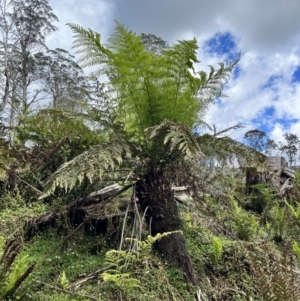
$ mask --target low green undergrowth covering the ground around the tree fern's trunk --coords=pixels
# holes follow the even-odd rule
[[[299,180],[296,173],[294,190],[283,198],[268,184],[256,185],[246,196],[241,178],[222,178],[215,183],[215,194],[178,203],[198,286],[188,284],[182,271],[153,249],[161,237],[150,235],[138,204],[124,207],[131,198],[128,192],[114,206],[106,206],[107,218],[99,226],[87,222],[74,231],[61,218],[55,227],[31,238],[22,225],[49,208],[3,196],[1,297],[298,301]]]

